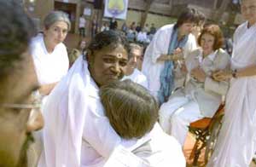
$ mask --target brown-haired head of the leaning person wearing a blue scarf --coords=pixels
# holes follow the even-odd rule
[[[195,9],[185,9],[177,18],[175,28],[178,28],[180,35],[188,35],[198,23],[199,15]]]

